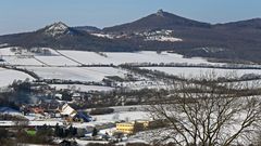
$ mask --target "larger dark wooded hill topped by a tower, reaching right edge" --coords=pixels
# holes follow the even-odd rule
[[[162,10],[144,18],[104,28],[108,34],[127,34],[142,50],[173,50],[188,57],[261,63],[261,18],[212,25],[177,16]],[[142,41],[137,32],[173,30],[172,37],[183,41]],[[162,37],[162,36],[161,36]]]

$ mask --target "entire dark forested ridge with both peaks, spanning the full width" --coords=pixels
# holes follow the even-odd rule
[[[261,18],[202,23],[159,10],[133,23],[99,29],[55,23],[42,29],[5,35],[0,43],[85,51],[174,51],[185,56],[261,63]]]

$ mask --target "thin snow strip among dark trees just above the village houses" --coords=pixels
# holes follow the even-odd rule
[[[77,91],[112,91],[114,88],[101,87],[101,85],[84,85],[84,84],[49,84],[51,88],[57,90],[61,89],[75,89]]]

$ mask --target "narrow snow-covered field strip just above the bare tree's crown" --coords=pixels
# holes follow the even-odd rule
[[[159,70],[170,75],[185,76],[186,78],[199,77],[200,75],[214,72],[217,77],[227,75],[243,76],[246,74],[261,75],[261,69],[220,69],[220,68],[198,68],[198,67],[141,67],[144,69]]]

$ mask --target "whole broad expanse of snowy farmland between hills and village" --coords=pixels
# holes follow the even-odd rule
[[[152,81],[144,77],[144,75],[135,75],[132,69],[125,70],[115,66],[123,64],[142,66],[142,64],[146,64],[145,66],[148,65],[148,67],[140,68],[163,71],[174,76],[182,75],[185,78],[192,78],[211,71],[214,71],[217,77],[231,74],[238,77],[246,74],[261,75],[261,70],[259,69],[213,69],[212,67],[219,67],[224,64],[210,63],[207,59],[199,57],[186,58],[183,57],[183,55],[167,52],[88,52],[53,50],[49,48],[37,48],[32,50],[21,48],[4,48],[0,50],[0,55],[2,65],[28,70],[36,74],[40,79],[59,79],[66,81],[102,83],[102,80],[107,79],[108,77],[113,77],[114,79],[116,77],[117,80],[114,80],[114,85],[129,88],[132,90],[140,90],[144,88],[165,89],[165,85],[161,81]],[[114,66],[109,67],[108,65],[111,64]],[[153,66],[153,64],[158,65],[158,67]],[[182,64],[184,66],[175,67],[176,64]],[[174,66],[165,67],[164,65]],[[201,68],[198,66],[204,67]],[[127,77],[129,75],[130,80],[129,77]],[[122,79],[126,80],[123,81]],[[63,84],[67,83],[64,82]],[[86,87],[83,87],[83,89],[85,89],[85,91],[91,90],[91,88],[88,90]],[[107,90],[103,89],[103,87],[101,87],[101,89],[94,89],[97,91]]]

